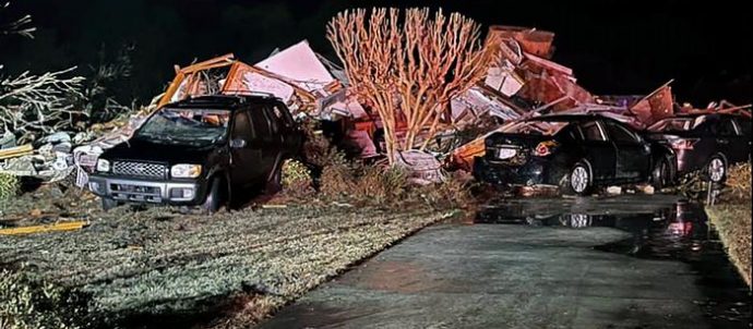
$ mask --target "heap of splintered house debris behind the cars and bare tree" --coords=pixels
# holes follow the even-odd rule
[[[690,112],[742,112],[750,105],[713,102],[704,109],[676,102],[671,81],[645,96],[598,96],[577,84],[572,69],[551,61],[554,34],[536,28],[491,26],[486,42],[497,56],[487,63],[486,78],[451,100],[426,151],[398,153],[395,163],[411,171],[419,183],[440,182],[446,170],[470,171],[483,155],[483,138],[516,120],[545,113],[598,112],[636,129]],[[85,132],[56,132],[33,144],[15,145],[11,132],[0,135],[0,173],[45,182],[73,178],[84,186],[97,156],[127,141],[154,109],[203,95],[271,95],[280,98],[298,118],[334,123],[338,145],[360,158],[385,154],[381,120],[349,93],[344,70],[314,52],[303,40],[251,65],[225,54],[186,68],[150,107]],[[401,136],[399,122],[397,136]],[[428,132],[429,126],[426,127]],[[468,134],[470,133],[470,135]],[[426,134],[425,134],[426,135]],[[425,137],[423,137],[425,138]],[[417,145],[425,142],[420,134]]]

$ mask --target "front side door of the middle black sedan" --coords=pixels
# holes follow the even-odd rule
[[[650,146],[617,121],[605,119],[601,122],[617,153],[614,176],[629,181],[641,181],[647,178],[652,166]]]

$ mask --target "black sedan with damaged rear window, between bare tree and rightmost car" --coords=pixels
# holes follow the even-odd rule
[[[674,175],[671,149],[601,115],[538,117],[509,124],[485,143],[474,175],[494,185],[560,185],[583,195],[611,184],[661,187]]]

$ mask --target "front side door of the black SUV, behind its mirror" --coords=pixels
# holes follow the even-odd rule
[[[261,149],[249,112],[239,110],[232,118],[230,138],[230,179],[234,186],[248,187],[260,175]]]

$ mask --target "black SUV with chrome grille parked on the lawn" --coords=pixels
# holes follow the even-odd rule
[[[204,96],[166,105],[97,160],[88,188],[103,208],[122,203],[201,206],[214,212],[277,186],[302,145],[287,107],[272,96]]]

